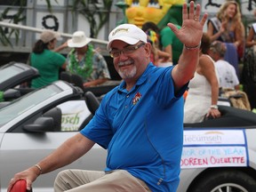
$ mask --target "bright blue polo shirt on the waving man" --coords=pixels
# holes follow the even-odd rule
[[[174,95],[172,67],[148,64],[125,90],[108,92],[81,133],[108,148],[106,171],[122,169],[144,180],[152,191],[176,191],[183,144],[183,92]]]

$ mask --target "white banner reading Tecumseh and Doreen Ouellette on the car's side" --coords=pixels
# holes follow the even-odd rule
[[[244,130],[184,131],[181,168],[247,166]]]

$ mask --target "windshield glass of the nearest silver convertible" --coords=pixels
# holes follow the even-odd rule
[[[10,105],[0,109],[0,127],[59,92],[61,89],[51,84],[14,100]]]

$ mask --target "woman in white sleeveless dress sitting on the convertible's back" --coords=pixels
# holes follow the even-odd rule
[[[184,123],[186,124],[200,123],[204,121],[204,118],[220,116],[217,106],[219,82],[214,61],[208,55],[210,45],[210,37],[204,33],[196,73],[188,84],[188,96],[184,107]]]

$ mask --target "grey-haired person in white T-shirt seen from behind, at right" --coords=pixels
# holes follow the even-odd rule
[[[231,88],[239,90],[239,80],[236,76],[236,69],[224,60],[227,47],[220,41],[214,41],[211,44],[209,55],[215,61],[221,88]]]

